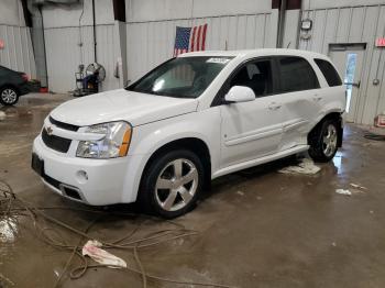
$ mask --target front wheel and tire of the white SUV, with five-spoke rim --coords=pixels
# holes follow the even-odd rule
[[[204,179],[205,169],[195,153],[166,152],[152,160],[143,173],[139,202],[146,212],[166,219],[183,215],[195,208]]]

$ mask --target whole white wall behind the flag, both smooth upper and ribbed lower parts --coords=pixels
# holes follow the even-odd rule
[[[170,58],[176,26],[207,23],[206,49],[274,47],[271,0],[125,0],[128,79]]]

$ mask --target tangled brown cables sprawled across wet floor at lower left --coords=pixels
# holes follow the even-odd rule
[[[70,210],[76,212],[92,213],[95,214],[95,218],[92,221],[88,223],[85,230],[80,230],[63,222],[62,220],[58,220],[47,214],[46,211],[50,211],[50,210],[51,211],[52,210]],[[41,239],[44,243],[46,243],[50,246],[68,251],[70,253],[64,266],[64,270],[57,278],[56,283],[54,284],[54,287],[59,287],[59,285],[63,283],[64,276],[67,273],[70,279],[78,279],[82,277],[87,273],[87,270],[90,268],[111,267],[111,265],[89,264],[88,258],[81,254],[81,243],[85,240],[95,240],[95,237],[89,234],[91,229],[98,224],[98,221],[100,221],[100,219],[106,219],[106,217],[111,217],[111,215],[131,217],[133,219],[139,218],[138,214],[133,214],[133,213],[100,211],[100,210],[92,210],[92,209],[86,209],[86,208],[81,209],[81,208],[64,208],[64,207],[35,207],[30,202],[25,201],[24,199],[22,199],[20,196],[15,195],[10,185],[8,185],[6,181],[0,180],[0,221],[4,220],[4,221],[13,221],[14,223],[18,223],[18,219],[20,217],[28,217],[30,218],[34,228],[33,231],[37,234],[38,239]],[[62,229],[65,229],[72,232],[73,234],[78,235],[79,239],[77,244],[74,245],[74,244],[66,243],[64,237],[61,236],[61,232],[57,229],[54,229],[53,226],[43,226],[41,224],[42,222],[41,220],[48,221]],[[134,236],[141,231],[141,228],[145,224],[145,222],[150,220],[161,222],[162,224],[168,224],[169,228],[158,230],[152,233],[147,233],[145,236],[134,239]],[[12,228],[12,225],[10,226]],[[54,234],[56,235],[56,237],[54,236]],[[134,267],[127,267],[127,268],[120,267],[120,268],[123,272],[134,273],[141,276],[143,288],[147,287],[147,280],[168,283],[168,284],[175,284],[175,285],[201,286],[201,287],[221,287],[221,288],[234,287],[234,286],[228,286],[222,284],[183,281],[183,280],[169,279],[169,278],[152,275],[145,270],[144,264],[142,263],[139,254],[139,251],[141,248],[154,247],[156,245],[161,245],[169,241],[175,241],[182,237],[195,236],[197,234],[198,234],[197,231],[186,229],[184,225],[179,223],[176,223],[169,220],[160,220],[157,218],[146,217],[144,221],[136,224],[136,226],[125,235],[116,240],[99,241],[99,242],[102,243],[102,246],[106,248],[129,250],[133,254],[138,268],[134,268]],[[78,257],[81,264],[69,270],[70,264],[74,257]]]

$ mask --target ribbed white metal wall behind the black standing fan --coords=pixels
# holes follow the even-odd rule
[[[120,56],[114,29],[114,24],[97,25],[98,63],[106,68],[107,74],[101,86],[103,91],[119,87],[119,79],[113,76]],[[67,26],[44,30],[50,90],[67,92],[75,89],[75,73],[78,70],[78,65],[82,63],[87,66],[94,63],[92,33],[92,26],[88,25],[80,29]]]

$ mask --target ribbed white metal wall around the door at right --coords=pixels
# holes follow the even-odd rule
[[[302,19],[311,19],[314,27],[309,40],[299,40],[300,49],[328,54],[331,43],[366,43],[354,122],[372,124],[385,110],[385,49],[374,45],[377,36],[385,36],[385,5],[305,10]],[[376,78],[381,85],[374,86]]]

